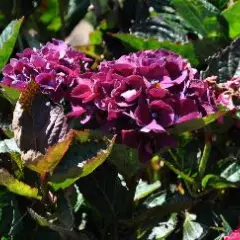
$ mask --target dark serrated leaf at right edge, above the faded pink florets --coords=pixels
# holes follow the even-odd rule
[[[230,46],[214,54],[208,60],[207,69],[202,72],[202,77],[218,76],[220,83],[226,82],[233,77],[240,76],[240,38]]]

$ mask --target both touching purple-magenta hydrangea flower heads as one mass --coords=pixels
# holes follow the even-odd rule
[[[4,68],[2,84],[22,90],[35,79],[52,99],[70,102],[69,118],[117,133],[143,161],[175,144],[170,128],[216,110],[209,83],[166,50],[103,61],[97,72],[88,71],[84,54],[58,40],[17,56]]]

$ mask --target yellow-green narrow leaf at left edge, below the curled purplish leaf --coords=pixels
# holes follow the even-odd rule
[[[15,179],[3,168],[0,169],[0,185],[5,186],[10,192],[13,192],[15,194],[28,198],[36,198],[39,200],[41,199],[37,188],[30,187],[29,185]]]

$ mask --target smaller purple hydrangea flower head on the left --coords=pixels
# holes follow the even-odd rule
[[[40,49],[25,49],[3,69],[2,84],[23,90],[31,79],[54,100],[66,97],[76,78],[88,69],[88,59],[61,40],[53,40]]]

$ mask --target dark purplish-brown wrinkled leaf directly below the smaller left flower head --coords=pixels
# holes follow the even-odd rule
[[[40,93],[39,85],[34,81],[20,95],[12,128],[26,163],[45,154],[50,146],[62,141],[68,131],[63,107]]]

